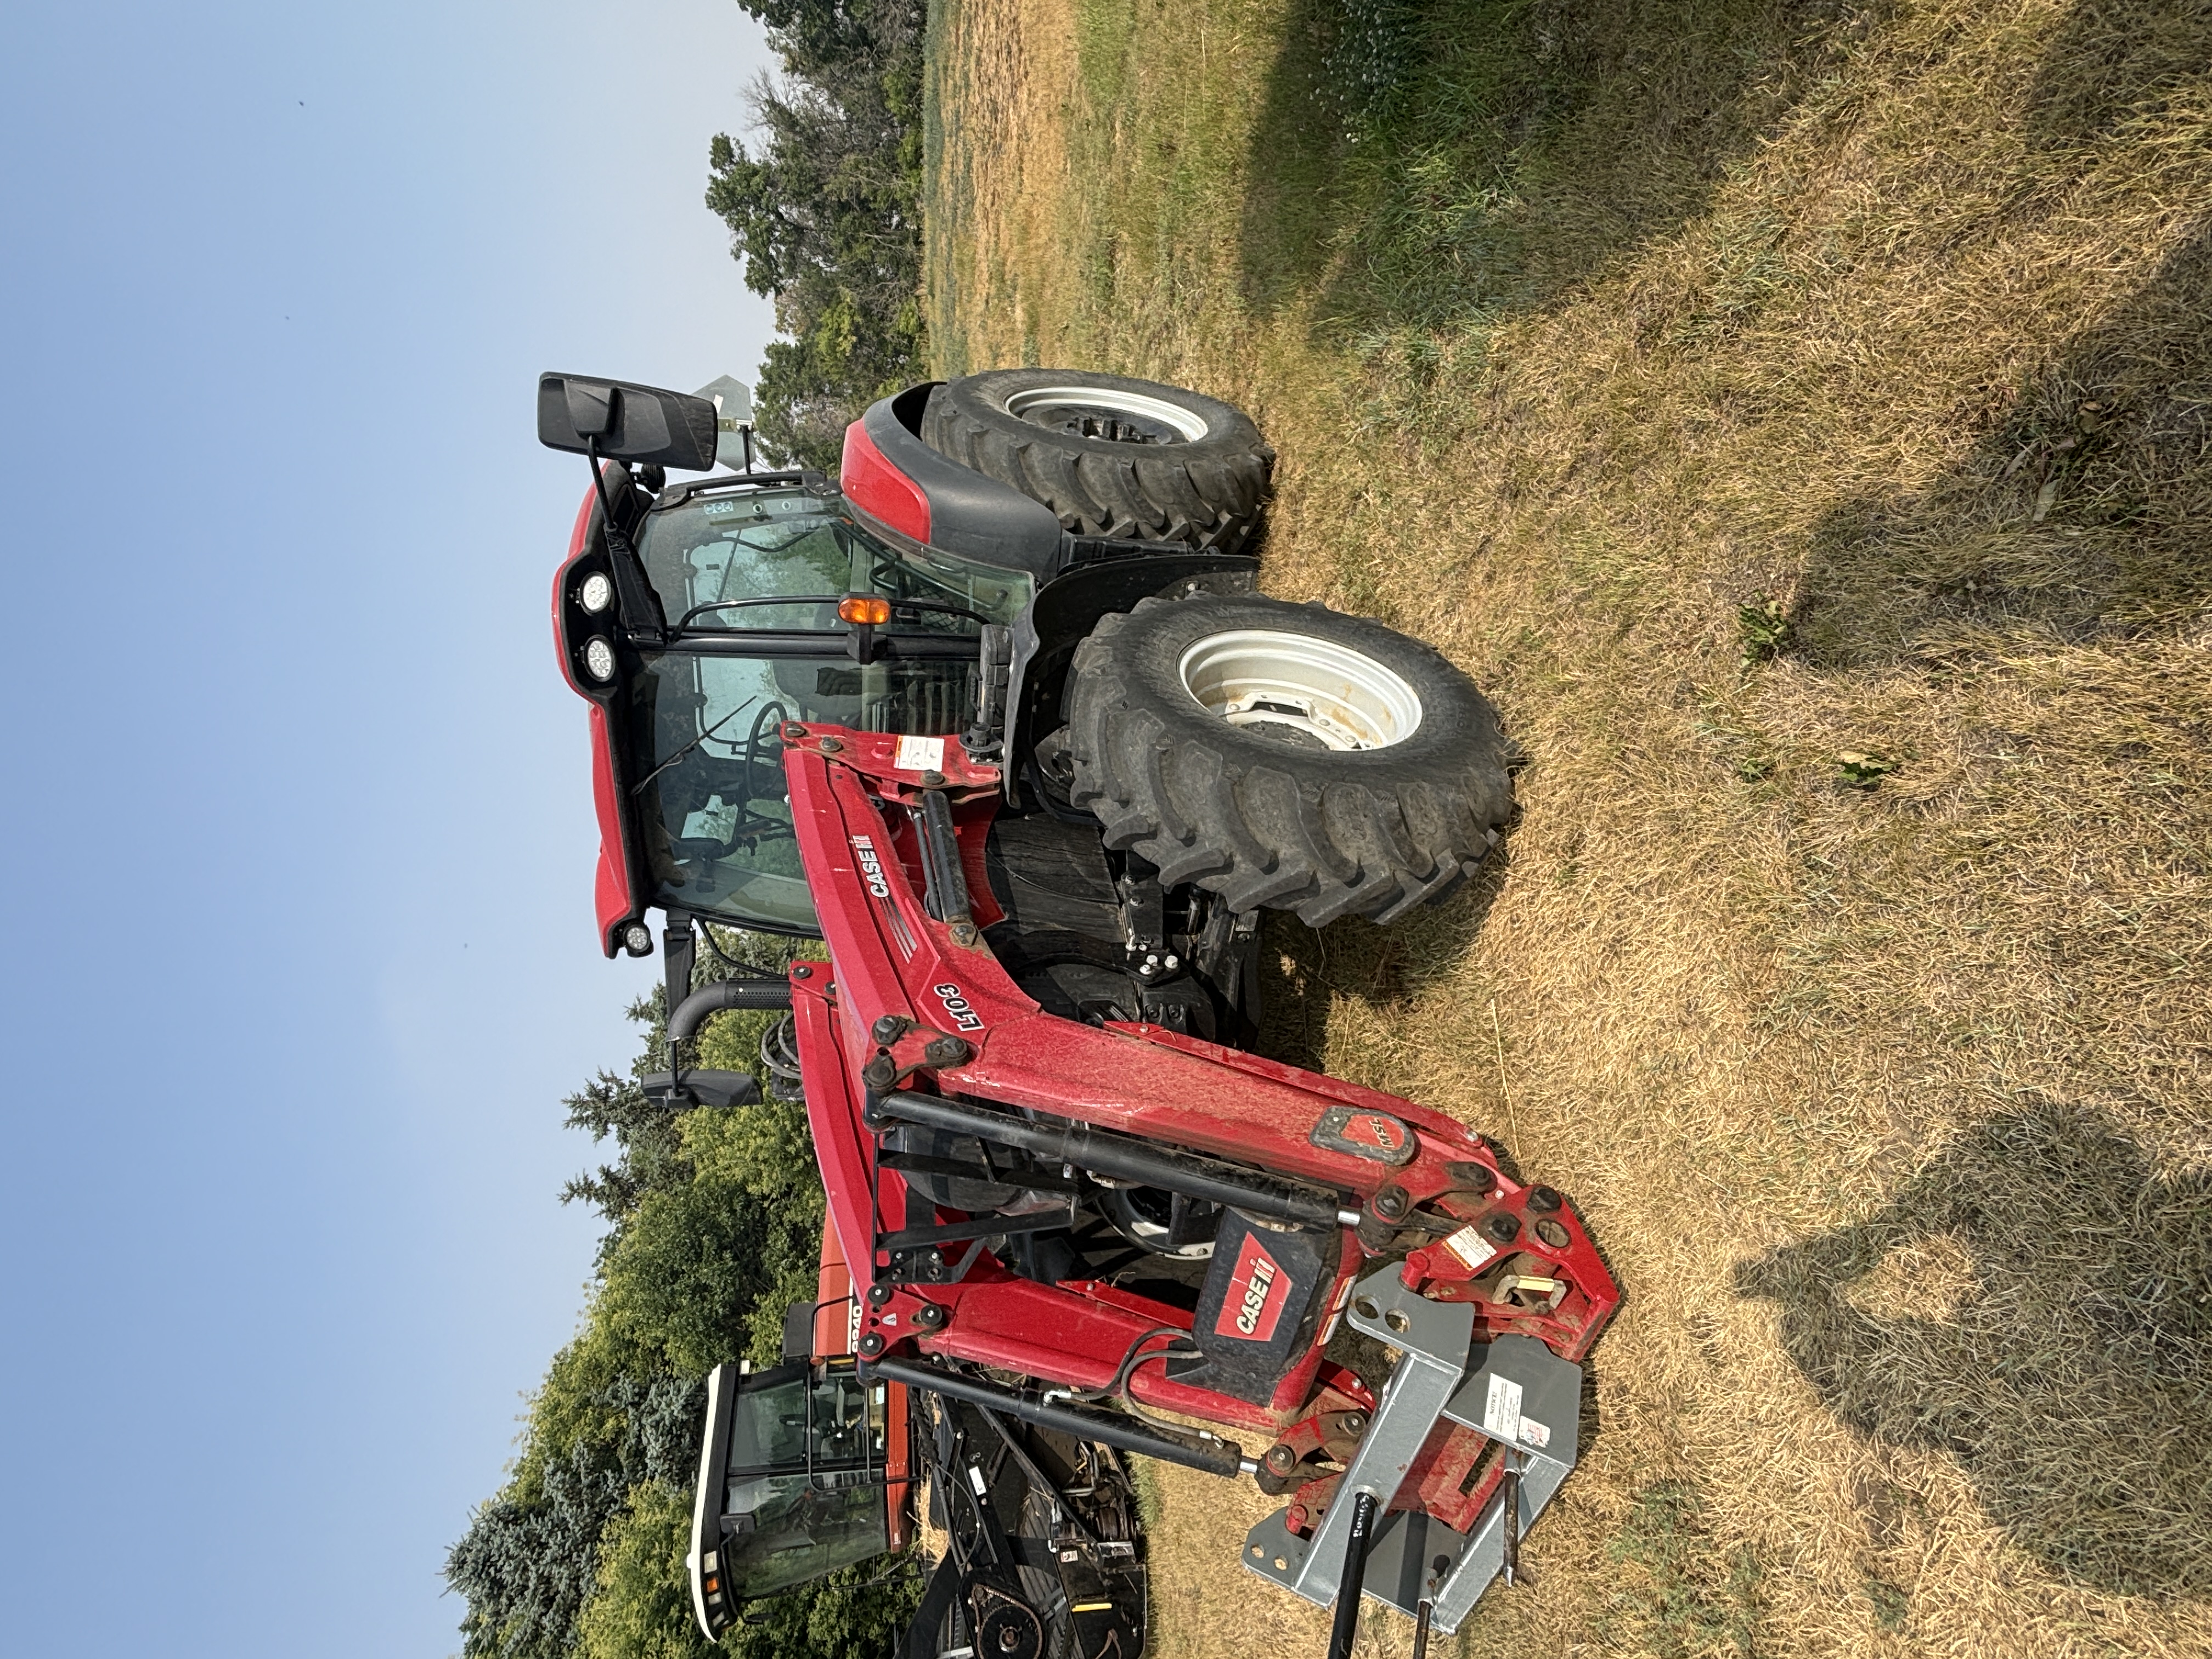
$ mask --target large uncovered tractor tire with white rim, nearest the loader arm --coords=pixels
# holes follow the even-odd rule
[[[1498,710],[1442,653],[1261,597],[1144,599],[1075,648],[1071,801],[1230,909],[1394,922],[1513,810]]]

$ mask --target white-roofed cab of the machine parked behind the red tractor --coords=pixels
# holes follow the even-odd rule
[[[852,1356],[708,1376],[692,1509],[690,1582],[699,1624],[719,1637],[745,1601],[894,1546],[907,1502],[891,1491],[905,1391],[863,1383]],[[894,1438],[896,1429],[896,1438]]]

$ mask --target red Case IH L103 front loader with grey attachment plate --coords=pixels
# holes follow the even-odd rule
[[[1542,1398],[1557,1418],[1562,1389],[1579,1394],[1575,1360],[1619,1305],[1573,1206],[1509,1179],[1480,1135],[1433,1108],[1155,1026],[1042,1011],[984,945],[975,909],[989,898],[962,878],[1000,774],[958,739],[787,723],[783,763],[830,947],[830,964],[792,967],[792,1009],[830,1219],[863,1287],[863,1369],[1256,1473],[1294,1502],[1254,1533],[1245,1566],[1318,1601],[1358,1577],[1338,1537],[1354,1504],[1336,1498],[1367,1491],[1383,1511],[1376,1551],[1405,1557],[1409,1586],[1369,1593],[1409,1613],[1407,1597],[1429,1599],[1455,1628],[1511,1564],[1504,1522],[1548,1498],[1531,1458],[1562,1475],[1559,1453],[1573,1462],[1573,1420],[1528,1405],[1522,1438],[1517,1407],[1482,1407]],[[973,1135],[1035,1203],[933,1203],[885,1157],[902,1124]],[[1137,1181],[1230,1210],[1197,1310],[1011,1267],[1006,1239]],[[1345,1318],[1407,1356],[1380,1394],[1323,1356]],[[1469,1405],[1475,1383],[1489,1394]],[[1115,1402],[1270,1444],[1248,1455],[1102,1409]],[[1409,1544],[1407,1526],[1427,1542]],[[1449,1566],[1422,1590],[1427,1562]]]

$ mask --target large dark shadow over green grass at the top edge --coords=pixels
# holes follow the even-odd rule
[[[1878,11],[1296,0],[1250,148],[1245,292],[1325,283],[1354,330],[1540,307],[1703,212]]]

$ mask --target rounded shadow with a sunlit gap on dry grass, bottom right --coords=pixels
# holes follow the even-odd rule
[[[2053,1571],[2212,1597],[2212,1175],[2159,1177],[2093,1110],[2006,1113],[1736,1290],[1829,1409],[1958,1458]]]

